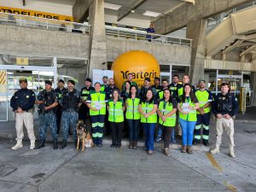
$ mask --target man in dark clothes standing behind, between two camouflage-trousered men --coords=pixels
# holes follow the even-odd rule
[[[65,87],[65,82],[60,79],[58,81],[58,84],[57,84],[57,88],[55,89],[55,93],[56,93],[56,96],[58,98],[58,102],[60,103],[61,102],[61,98],[62,98],[62,93],[64,90],[67,90]],[[57,122],[57,134],[60,133],[60,128],[61,128],[61,105],[59,104],[56,108],[56,122]]]

